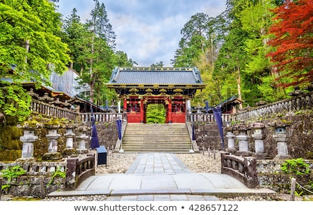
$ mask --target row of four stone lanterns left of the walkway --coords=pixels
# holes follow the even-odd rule
[[[74,125],[68,124],[65,125],[66,132],[64,134],[66,138],[66,146],[63,152],[58,152],[58,138],[61,137],[61,134],[58,134],[58,129],[60,125],[42,125],[36,123],[36,125],[25,124],[20,126],[24,132],[23,136],[19,139],[23,143],[22,147],[22,158],[31,160],[33,158],[34,147],[33,143],[38,140],[38,136],[35,135],[35,130],[45,127],[48,129],[48,134],[46,137],[48,139],[48,151],[43,154],[42,159],[44,160],[58,160],[62,159],[63,155],[69,156],[72,154],[85,154],[88,152],[86,148],[86,143],[90,139],[87,135],[90,127],[86,125]],[[74,134],[74,129],[77,129],[78,135]],[[77,139],[78,148],[74,148],[74,137]]]

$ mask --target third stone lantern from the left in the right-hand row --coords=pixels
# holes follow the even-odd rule
[[[262,122],[254,122],[251,125],[251,129],[253,134],[251,135],[252,138],[255,140],[255,157],[257,159],[264,159],[266,154],[264,154],[264,129],[265,125]]]

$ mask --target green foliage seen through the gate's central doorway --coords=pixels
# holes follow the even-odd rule
[[[147,123],[165,123],[166,110],[163,104],[149,104],[147,106]]]

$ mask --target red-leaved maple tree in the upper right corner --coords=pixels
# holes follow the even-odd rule
[[[273,10],[269,45],[278,86],[303,86],[313,81],[313,0],[286,1]]]

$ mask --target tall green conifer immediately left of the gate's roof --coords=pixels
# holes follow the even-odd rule
[[[95,8],[90,13],[91,19],[79,29],[81,37],[75,38],[78,53],[77,64],[80,65],[79,81],[81,85],[90,86],[90,102],[103,105],[112,93],[104,88],[109,81],[111,71],[118,62],[115,56],[115,33],[109,24],[104,3],[95,1]],[[80,50],[83,50],[81,53]],[[75,62],[74,62],[75,63]]]

